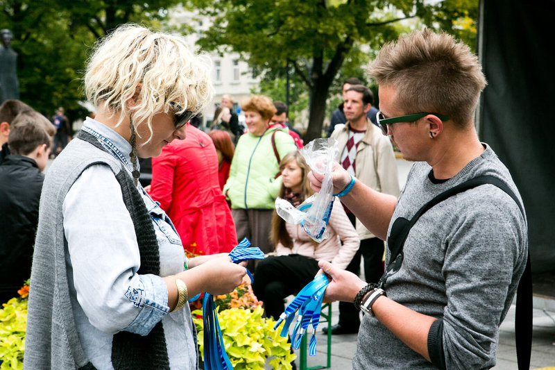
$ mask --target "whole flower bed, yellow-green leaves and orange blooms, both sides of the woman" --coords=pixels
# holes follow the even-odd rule
[[[27,324],[28,284],[19,289],[19,298],[3,303],[0,310],[0,370],[23,369]],[[202,298],[190,303],[193,320],[198,330],[200,353],[203,350],[203,311],[195,309]],[[250,283],[239,285],[230,294],[216,296],[219,323],[234,370],[273,369],[290,370],[296,355],[290,353],[287,338],[273,330],[275,321],[262,317],[262,302],[253,294]]]

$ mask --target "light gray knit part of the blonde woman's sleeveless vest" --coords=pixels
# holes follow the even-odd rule
[[[76,139],[53,162],[44,180],[31,271],[25,369],[94,369],[80,344],[71,308],[62,215],[69,188],[94,164],[108,165],[117,177],[124,171],[112,155]]]

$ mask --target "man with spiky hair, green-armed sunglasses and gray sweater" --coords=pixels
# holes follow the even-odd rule
[[[416,31],[382,47],[368,74],[379,87],[384,133],[416,162],[399,199],[370,189],[340,165],[332,172],[342,203],[388,240],[386,274],[377,286],[319,262],[331,280],[325,297],[367,313],[353,369],[494,367],[499,325],[527,266],[528,240],[511,174],[475,131],[486,87],[478,59],[450,35]],[[495,181],[422,208],[484,175]],[[318,191],[323,178],[310,173],[309,179]]]

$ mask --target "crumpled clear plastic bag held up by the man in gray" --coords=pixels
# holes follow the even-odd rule
[[[320,192],[306,199],[297,208],[284,199],[275,200],[275,211],[290,224],[300,224],[305,233],[316,242],[329,237],[326,226],[335,197],[333,196],[332,165],[339,153],[335,139],[312,140],[300,149],[307,165],[313,172],[324,176]]]

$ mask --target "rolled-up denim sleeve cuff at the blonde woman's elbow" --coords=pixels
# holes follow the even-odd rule
[[[169,312],[168,288],[160,276],[141,275],[139,280],[141,287],[128,287],[126,297],[140,312],[123,330],[144,336]]]

